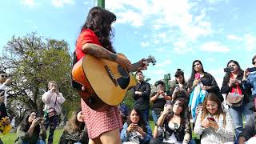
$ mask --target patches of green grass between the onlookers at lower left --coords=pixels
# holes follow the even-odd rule
[[[54,144],[58,144],[58,140],[59,138],[62,136],[62,132],[63,132],[63,129],[56,129],[54,131]],[[49,135],[49,130],[47,130],[47,138],[48,138],[48,135]],[[2,139],[2,142],[4,144],[14,144],[14,141],[16,139],[17,135],[16,133],[8,133],[6,135],[2,135],[0,136],[0,138]],[[46,139],[47,140],[47,139]]]

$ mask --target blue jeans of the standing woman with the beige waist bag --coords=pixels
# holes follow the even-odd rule
[[[242,115],[246,118],[246,122],[248,122],[250,118],[250,114],[254,113],[253,111],[249,110],[252,106],[253,106],[253,102],[249,102],[239,107],[230,107],[230,114],[234,121],[236,138],[238,138],[239,134],[242,132],[242,128],[243,128]]]

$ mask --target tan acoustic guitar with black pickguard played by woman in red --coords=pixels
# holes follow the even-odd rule
[[[123,54],[118,54],[125,57]],[[152,56],[146,62],[155,64]],[[143,66],[142,61],[136,62],[130,72],[124,70],[116,62],[102,58],[94,58],[86,54],[72,69],[72,80],[78,93],[93,110],[101,111],[103,106],[118,106],[130,87],[136,85],[131,72]]]

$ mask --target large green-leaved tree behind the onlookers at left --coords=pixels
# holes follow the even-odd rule
[[[52,80],[58,82],[66,99],[78,99],[70,86],[72,58],[67,42],[31,33],[18,38],[13,36],[3,49],[0,64],[14,79],[8,91],[8,102],[19,102],[25,106],[23,110],[42,112],[41,96],[47,90],[47,82]]]

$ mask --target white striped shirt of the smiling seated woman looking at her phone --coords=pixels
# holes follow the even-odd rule
[[[201,135],[201,143],[203,144],[216,144],[225,142],[234,142],[234,122],[230,116],[229,112],[226,112],[226,126],[224,126],[223,115],[221,114],[219,118],[214,116],[214,119],[218,123],[218,130],[214,128],[203,128],[201,126],[201,116],[202,113],[198,114],[197,120],[194,126],[194,133]],[[206,115],[206,118],[210,117],[210,114]]]

